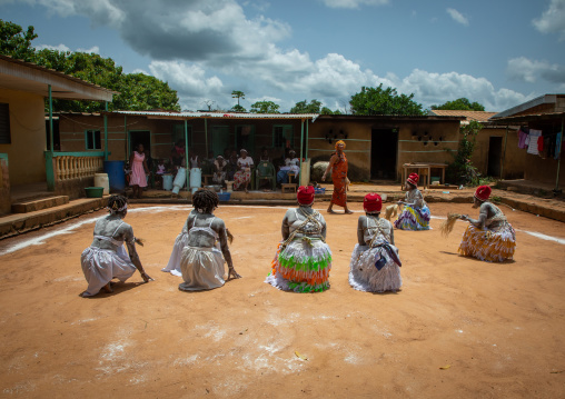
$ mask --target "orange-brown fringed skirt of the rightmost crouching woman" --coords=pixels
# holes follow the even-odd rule
[[[502,262],[512,259],[516,250],[516,233],[511,223],[494,230],[477,229],[469,225],[463,233],[459,253],[487,262]]]

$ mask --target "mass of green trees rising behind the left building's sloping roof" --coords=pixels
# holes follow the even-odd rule
[[[24,33],[20,26],[0,20],[0,50],[2,54],[34,62],[66,74],[118,91],[109,110],[166,109],[180,111],[177,91],[167,82],[143,73],[123,73],[111,58],[96,53],[36,50],[31,40],[38,36],[33,27]],[[53,100],[54,111],[97,112],[105,109],[100,101]]]

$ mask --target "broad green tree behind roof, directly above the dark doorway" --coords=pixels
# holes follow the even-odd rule
[[[351,96],[349,104],[354,114],[424,114],[422,104],[413,101],[410,96],[398,94],[396,89],[363,87],[361,91]]]

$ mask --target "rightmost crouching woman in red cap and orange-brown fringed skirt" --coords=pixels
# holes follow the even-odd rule
[[[473,208],[480,208],[478,219],[462,215],[469,226],[463,235],[459,253],[487,262],[512,259],[516,250],[516,233],[503,211],[488,201],[490,187],[480,186],[475,191]]]

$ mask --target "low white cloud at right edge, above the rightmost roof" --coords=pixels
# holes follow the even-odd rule
[[[518,57],[508,61],[506,73],[511,79],[527,83],[535,83],[542,79],[552,83],[561,83],[562,88],[565,88],[565,66],[557,63]]]

